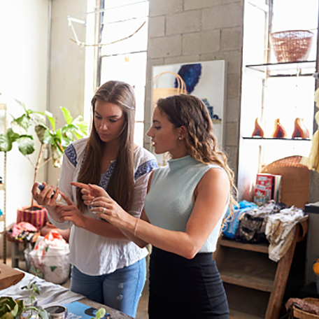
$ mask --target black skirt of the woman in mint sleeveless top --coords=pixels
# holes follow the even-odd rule
[[[150,255],[150,319],[227,319],[227,297],[212,253],[187,260],[153,246]]]

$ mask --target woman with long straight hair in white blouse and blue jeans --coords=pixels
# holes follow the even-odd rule
[[[71,290],[88,299],[135,316],[146,280],[146,248],[139,248],[118,227],[97,218],[90,201],[71,183],[92,183],[108,192],[120,207],[140,218],[150,172],[157,168],[153,154],[134,145],[134,90],[127,83],[108,81],[92,99],[90,137],[72,143],[64,152],[59,187],[37,183],[32,194],[48,209],[60,229],[71,227]],[[59,192],[64,203],[56,203]],[[60,218],[61,214],[64,215]]]

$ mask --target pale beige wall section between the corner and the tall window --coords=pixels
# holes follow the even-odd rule
[[[90,109],[91,107],[90,99],[93,94],[93,85],[89,85],[92,90],[87,93],[90,99],[85,103],[85,81],[92,83],[93,78],[92,74],[85,77],[86,67],[88,68],[85,65],[86,48],[71,41],[74,35],[67,19],[69,15],[87,21],[88,17],[85,13],[94,10],[92,4],[90,8],[88,7],[88,3],[95,3],[95,0],[52,1],[49,111],[55,115],[57,127],[64,125],[64,118],[59,106],[69,108],[73,118],[83,115],[83,113],[90,113],[85,108]],[[73,26],[79,41],[85,42],[87,25],[73,23]],[[88,50],[91,52],[93,49],[89,48]],[[57,185],[59,174],[60,169],[48,165],[48,183]]]

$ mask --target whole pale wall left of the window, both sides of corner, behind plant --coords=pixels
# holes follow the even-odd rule
[[[69,108],[74,117],[83,114],[85,49],[70,40],[73,34],[67,16],[86,13],[88,1],[95,3],[95,0],[0,0],[0,102],[8,104],[9,113],[20,115],[21,108],[15,102],[18,99],[36,111],[48,109],[55,115],[57,127],[64,125],[59,106]],[[92,5],[90,10],[94,10]],[[85,41],[87,28],[76,28],[80,39]],[[1,173],[0,162],[0,176]],[[39,171],[38,180],[56,184],[58,177],[59,169],[49,164]],[[33,167],[15,146],[7,160],[6,225],[15,222],[18,206],[31,203],[33,179]],[[1,209],[2,202],[0,193]]]

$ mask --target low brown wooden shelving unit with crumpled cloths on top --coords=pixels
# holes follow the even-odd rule
[[[295,246],[304,238],[305,224],[295,227],[292,244],[279,262],[269,259],[267,244],[218,241],[214,258],[225,285],[229,318],[278,318]]]

